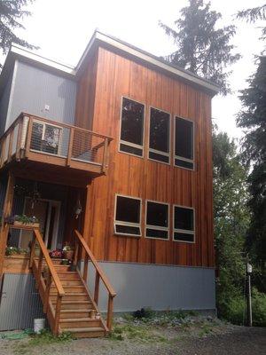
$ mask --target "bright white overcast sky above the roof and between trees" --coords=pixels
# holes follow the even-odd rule
[[[235,117],[241,108],[239,90],[247,86],[246,79],[255,71],[254,55],[260,54],[259,40],[262,23],[246,24],[234,20],[239,10],[259,6],[265,0],[211,0],[211,9],[221,12],[221,26],[238,27],[232,43],[242,58],[231,67],[233,93],[213,99],[212,117],[220,130],[239,139],[241,130]],[[154,55],[163,56],[175,51],[172,40],[165,35],[158,22],[174,27],[179,11],[186,0],[35,0],[27,6],[32,16],[23,20],[25,30],[20,36],[40,47],[37,51],[46,58],[75,66],[96,28],[116,36]]]

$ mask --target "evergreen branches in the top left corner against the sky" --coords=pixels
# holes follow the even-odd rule
[[[33,3],[34,0],[1,0],[0,1],[0,49],[7,53],[12,43],[18,43],[29,49],[36,49],[32,44],[27,43],[15,35],[16,29],[24,29],[21,21],[24,17],[31,15],[31,12],[24,10],[24,6]],[[0,65],[1,67],[1,65]]]

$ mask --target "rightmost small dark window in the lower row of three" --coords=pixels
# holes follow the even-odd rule
[[[174,241],[195,241],[194,209],[174,206]]]

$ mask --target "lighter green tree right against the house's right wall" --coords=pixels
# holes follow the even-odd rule
[[[216,299],[219,316],[230,319],[233,299],[243,295],[244,246],[249,225],[246,169],[226,133],[213,130]]]

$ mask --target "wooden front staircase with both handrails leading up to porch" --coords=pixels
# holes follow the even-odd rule
[[[34,230],[30,266],[43,302],[43,312],[46,313],[51,331],[55,335],[70,332],[74,337],[105,336],[112,327],[115,292],[82,235],[77,231],[75,235],[74,267],[71,267],[60,264],[60,260],[51,260],[39,230]],[[35,243],[40,246],[38,258],[35,257]],[[77,267],[79,251],[85,251],[82,272]],[[94,297],[90,296],[87,284],[89,261],[96,268]],[[98,310],[99,280],[103,281],[109,293],[106,321]]]

